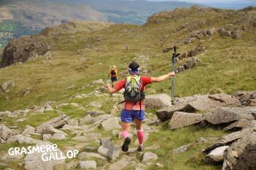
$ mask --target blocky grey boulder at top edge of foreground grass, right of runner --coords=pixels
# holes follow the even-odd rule
[[[169,128],[170,129],[182,128],[187,125],[200,123],[202,120],[203,120],[202,114],[174,112],[173,117],[169,122]]]

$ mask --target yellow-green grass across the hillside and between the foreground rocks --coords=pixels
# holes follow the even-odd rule
[[[78,22],[70,25],[64,34],[58,34],[62,32],[61,27],[48,29],[42,34],[47,35],[45,40],[52,47],[53,56],[50,61],[41,56],[34,61],[0,69],[0,82],[15,82],[15,87],[10,88],[9,93],[0,94],[0,111],[26,109],[46,101],[56,101],[56,104],[76,102],[83,107],[91,101],[97,101],[103,104],[102,110],[110,112],[113,104],[116,104],[112,96],[91,94],[83,99],[74,97],[97,93],[95,90],[102,88],[102,85],[93,85],[92,82],[108,80],[108,71],[113,65],[117,66],[120,79],[127,76],[127,65],[133,60],[140,63],[142,72],[148,71],[145,75],[159,76],[170,72],[171,53],[162,53],[162,50],[173,45],[178,46],[178,53],[188,52],[199,44],[207,49],[197,55],[202,61],[199,65],[177,74],[176,96],[219,92],[232,94],[237,90],[255,90],[255,27],[251,23],[244,23],[246,16],[255,15],[255,12],[255,9],[238,12],[192,7],[153,15],[143,26]],[[222,37],[215,33],[189,45],[183,43],[192,31],[219,28],[226,24],[233,24],[237,28],[246,25],[246,31],[241,30],[241,39]],[[128,52],[125,45],[129,45]],[[176,66],[184,62],[186,61],[178,61]],[[31,92],[23,96],[23,89],[26,88],[30,88]],[[170,81],[150,85],[146,94],[151,93],[170,93]],[[86,107],[86,110],[90,109],[91,107]],[[83,117],[85,112],[72,106],[63,107],[61,110],[72,118]],[[147,112],[154,115],[154,110]],[[47,115],[38,117],[31,115],[29,120],[15,125],[20,130],[25,125],[36,126],[56,116],[56,112],[47,112]],[[10,126],[16,119],[17,117],[4,117],[1,122]],[[166,126],[162,124],[157,127],[160,132],[150,135],[146,142],[146,146],[160,145],[154,152],[166,169],[221,169],[202,161],[203,155],[200,151],[210,143],[195,144],[189,152],[180,155],[175,155],[173,149],[195,142],[201,136],[214,138],[226,132],[211,127],[199,129],[197,126],[170,131]],[[109,136],[102,129],[99,132],[102,136]],[[121,140],[115,140],[121,144]],[[70,146],[68,142],[57,143],[61,148]],[[1,149],[7,150],[9,146],[2,144]],[[17,167],[18,163],[12,164]],[[150,166],[148,169],[156,168]]]

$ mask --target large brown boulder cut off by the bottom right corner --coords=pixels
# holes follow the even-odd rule
[[[249,131],[227,149],[223,170],[256,169],[256,132]]]

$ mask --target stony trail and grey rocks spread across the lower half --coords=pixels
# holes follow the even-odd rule
[[[10,85],[12,83],[9,83]],[[108,93],[103,86],[103,80],[92,83],[96,89],[94,93],[78,94],[73,98],[83,100],[89,96],[104,97],[108,100]],[[121,101],[122,94],[116,93],[110,96],[113,103]],[[230,131],[230,134],[215,139],[210,147],[203,151],[206,163],[223,163],[223,169],[238,169],[242,165],[248,169],[255,169],[255,146],[256,146],[256,91],[238,92],[234,96],[225,93],[214,95],[198,94],[184,98],[176,98],[176,105],[170,105],[170,97],[166,94],[149,95],[146,97],[146,107],[157,109],[157,115],[148,113],[148,118],[143,124],[146,132],[146,139],[151,133],[158,130],[157,126],[162,122],[169,121],[170,131],[176,128],[183,128],[188,125],[212,125],[223,131]],[[75,110],[84,110],[82,117],[71,118],[61,111],[62,107],[72,106]],[[86,111],[91,107],[91,111]],[[110,112],[102,110],[104,104],[91,101],[87,106],[78,103],[62,103],[48,101],[42,106],[33,106],[25,110],[14,112],[0,112],[0,117],[15,117],[12,126],[7,127],[3,121],[0,125],[1,143],[12,144],[18,142],[23,144],[53,144],[52,142],[62,141],[65,147],[58,149],[58,152],[67,150],[78,150],[78,158],[71,161],[42,161],[40,154],[10,156],[7,152],[1,153],[1,164],[8,166],[10,160],[21,161],[19,167],[24,169],[54,169],[61,166],[61,169],[147,169],[148,166],[155,166],[157,169],[165,169],[162,163],[157,161],[155,150],[159,145],[148,146],[144,152],[138,152],[136,131],[132,128],[130,136],[134,144],[128,152],[121,152],[121,125],[118,114],[120,107],[116,104]],[[48,112],[56,112],[59,116],[42,122],[36,127],[26,125],[22,130],[18,128],[18,122],[28,120],[28,115],[47,115]],[[23,116],[23,118],[20,118]],[[25,118],[24,118],[25,117]],[[52,142],[50,142],[52,141]],[[206,139],[198,139],[195,143],[208,142]],[[187,152],[193,144],[179,147],[173,152],[179,154]],[[45,168],[47,167],[47,168]]]

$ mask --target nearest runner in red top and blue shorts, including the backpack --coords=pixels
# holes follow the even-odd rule
[[[170,72],[159,77],[141,76],[140,66],[135,61],[132,61],[132,63],[129,64],[128,69],[129,77],[117,82],[114,88],[110,84],[107,84],[107,88],[111,94],[124,88],[124,101],[120,102],[120,104],[123,104],[121,110],[121,137],[124,139],[124,144],[122,145],[121,150],[127,152],[129,149],[129,144],[131,142],[129,128],[134,121],[139,142],[138,151],[141,152],[143,151],[144,139],[142,120],[146,119],[145,104],[143,102],[146,85],[151,84],[152,82],[162,82],[167,80],[168,77],[174,77],[175,72]]]

